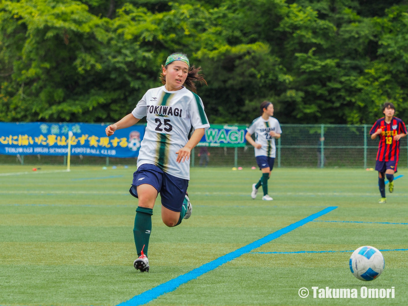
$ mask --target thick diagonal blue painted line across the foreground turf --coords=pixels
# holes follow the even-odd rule
[[[319,211],[318,213],[314,213],[313,215],[310,215],[302,220],[299,220],[293,224],[290,224],[289,226],[281,228],[280,230],[274,233],[271,233],[261,239],[258,239],[246,246],[243,246],[242,248],[239,248],[224,256],[218,257],[217,259],[214,259],[211,262],[203,264],[202,266],[195,268],[194,270],[186,274],[170,279],[168,282],[165,282],[163,284],[160,284],[159,286],[151,288],[150,290],[140,293],[139,295],[136,295],[132,297],[131,299],[129,299],[128,301],[118,304],[117,306],[138,306],[138,305],[149,303],[153,299],[156,299],[157,297],[159,297],[160,295],[169,293],[175,290],[178,286],[185,284],[186,282],[189,282],[192,279],[195,279],[203,275],[204,273],[212,271],[215,268],[221,266],[222,264],[225,264],[226,262],[229,262],[245,253],[248,253],[255,248],[259,248],[259,246],[262,246],[263,244],[266,244],[272,241],[273,239],[276,239],[286,233],[289,233],[290,231],[293,231],[299,226],[302,226],[322,215],[325,215],[326,213],[329,213],[330,211],[333,211],[333,209],[336,209],[336,208],[337,206],[330,206],[330,207],[324,208],[322,211]]]

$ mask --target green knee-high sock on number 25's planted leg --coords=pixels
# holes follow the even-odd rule
[[[143,253],[147,256],[150,232],[152,230],[152,215],[153,209],[137,206],[135,227],[133,228],[133,236],[135,237],[137,256],[140,256],[142,254],[143,246]]]

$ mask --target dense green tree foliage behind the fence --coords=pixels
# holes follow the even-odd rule
[[[113,122],[187,53],[210,122],[408,115],[408,7],[357,0],[20,0],[0,3],[0,120]]]

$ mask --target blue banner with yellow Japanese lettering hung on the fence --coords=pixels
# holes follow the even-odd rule
[[[0,122],[0,154],[67,155],[68,131],[72,131],[71,155],[136,157],[145,125],[134,125],[105,134],[107,124]]]

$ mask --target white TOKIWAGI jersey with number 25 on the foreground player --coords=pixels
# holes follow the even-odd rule
[[[194,129],[208,129],[210,124],[198,95],[185,87],[167,91],[164,86],[149,89],[132,111],[135,118],[147,116],[137,167],[154,164],[164,172],[190,179],[190,160],[176,162],[176,152],[188,142]]]

